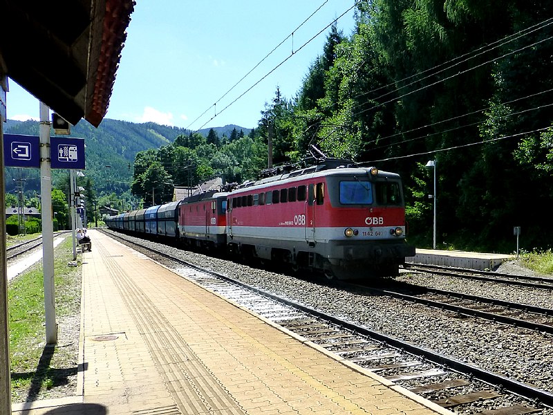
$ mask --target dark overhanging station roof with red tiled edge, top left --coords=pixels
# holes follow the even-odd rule
[[[106,115],[133,0],[0,0],[0,75],[60,116]]]

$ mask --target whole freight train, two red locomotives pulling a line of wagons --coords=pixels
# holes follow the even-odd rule
[[[337,159],[110,216],[106,225],[329,279],[397,275],[415,255],[400,176]]]

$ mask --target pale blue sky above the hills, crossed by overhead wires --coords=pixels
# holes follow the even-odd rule
[[[322,53],[329,29],[301,46],[354,3],[138,0],[106,118],[153,121],[192,130],[226,124],[256,127],[265,102],[272,100],[277,86],[285,98],[299,91],[308,67]],[[319,7],[306,24],[294,31]],[[340,17],[337,25],[349,36],[354,28],[353,10]],[[293,39],[286,40],[223,97],[293,31]],[[37,100],[13,81],[7,101],[8,118],[38,118]]]

